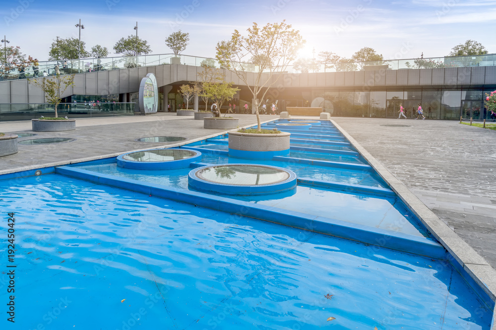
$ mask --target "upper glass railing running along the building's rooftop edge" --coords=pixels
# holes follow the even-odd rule
[[[220,68],[219,61],[214,58],[198,57],[189,55],[158,54],[121,56],[105,58],[84,58],[62,61],[39,62],[38,67],[32,63],[26,64],[24,70],[13,68],[4,70],[0,81],[36,78],[43,76],[54,76],[56,74],[74,74],[84,72],[98,72],[153,66],[161,64],[183,64],[201,66],[207,64],[211,67]],[[258,67],[250,63],[233,63],[238,69],[248,72],[257,72]],[[367,70],[401,70],[401,69],[428,69],[428,68],[450,68],[450,67],[474,67],[495,66],[496,54],[477,56],[445,56],[432,58],[410,58],[397,60],[383,60],[372,62],[336,62],[336,63],[308,63],[303,65],[290,65],[275,71],[281,73],[314,73],[314,72],[343,72],[343,71],[367,71]],[[269,69],[264,70],[266,72]]]

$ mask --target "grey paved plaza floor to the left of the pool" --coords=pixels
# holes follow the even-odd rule
[[[240,119],[240,127],[256,124],[254,115],[232,115]],[[275,116],[262,115],[262,121]],[[147,116],[84,118],[76,121],[76,129],[65,132],[32,132],[31,121],[1,122],[4,133],[35,133],[34,137],[19,141],[41,138],[73,138],[76,141],[45,145],[21,145],[19,152],[0,158],[0,173],[14,171],[25,166],[40,167],[54,162],[68,162],[72,159],[119,154],[126,151],[171,146],[176,143],[143,143],[139,138],[153,136],[185,137],[188,141],[219,134],[226,130],[203,128],[202,120],[176,116],[176,113],[157,113]]]

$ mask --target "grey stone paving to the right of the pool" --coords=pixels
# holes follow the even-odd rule
[[[398,121],[332,119],[496,268],[496,131],[456,121],[387,127]]]

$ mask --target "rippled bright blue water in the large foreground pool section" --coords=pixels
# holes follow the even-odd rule
[[[8,329],[490,326],[444,262],[59,175],[0,192],[16,216]]]

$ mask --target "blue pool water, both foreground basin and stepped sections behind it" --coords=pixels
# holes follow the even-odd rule
[[[336,135],[331,125],[318,127]],[[318,136],[291,145],[330,141]],[[365,159],[352,161],[361,156],[320,148],[241,160],[227,146],[222,135],[186,144],[202,158],[180,169],[127,169],[115,158],[62,167],[102,184],[61,174],[0,177],[0,207],[16,218],[12,329],[490,329],[494,302],[463,270],[416,245],[406,253],[387,243],[434,238]],[[281,167],[299,183],[264,196],[188,187],[192,169],[227,163]],[[125,189],[172,189],[176,199],[114,188],[111,179]],[[212,205],[200,203],[207,197]],[[226,201],[241,211],[216,206]],[[257,220],[243,211],[248,205],[281,219],[305,214],[347,224],[352,238],[271,223],[268,215]],[[353,236],[360,231],[386,243],[361,242]],[[0,286],[7,282],[0,271]],[[0,299],[7,301],[6,290]]]

